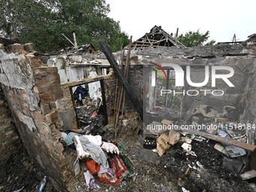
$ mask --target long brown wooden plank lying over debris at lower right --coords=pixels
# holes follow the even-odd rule
[[[197,130],[185,130],[185,131],[188,133],[193,133],[197,136],[203,136],[203,137],[205,137],[207,139],[211,139],[215,142],[221,142],[226,145],[236,145],[237,147],[247,149],[248,151],[254,151],[256,148],[255,145],[250,145],[250,144],[247,144],[244,142],[237,142],[236,140],[233,140],[233,139],[227,139],[227,138],[224,138],[221,136],[215,136],[215,135],[212,135],[209,133],[204,133],[204,132],[197,131]]]

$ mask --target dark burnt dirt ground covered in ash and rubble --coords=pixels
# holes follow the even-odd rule
[[[130,148],[128,157],[132,160],[136,174],[129,181],[122,180],[116,186],[105,184],[96,178],[95,183],[101,188],[93,191],[256,191],[252,183],[254,181],[242,181],[235,172],[224,169],[222,166],[224,154],[214,149],[215,142],[208,139],[203,142],[193,140],[191,145],[197,157],[186,156],[186,152],[181,148],[182,143],[169,148],[166,154],[160,157],[153,151],[143,148],[145,135],[139,131],[138,127],[142,122],[138,114],[130,114],[125,118],[128,121],[126,126],[123,125],[122,131],[117,131],[117,142]],[[113,140],[114,128],[111,124],[96,131],[108,141]],[[248,162],[248,157],[241,158],[241,161]],[[188,164],[194,166],[197,161],[203,165],[203,169],[198,171],[192,168],[185,175]],[[6,166],[1,167],[0,191],[37,191],[42,178],[44,175],[38,171],[26,151],[20,149],[19,154],[11,157]],[[78,183],[76,187],[78,192],[91,191],[85,183],[84,175],[75,178],[75,182]],[[48,181],[44,191],[56,190]]]

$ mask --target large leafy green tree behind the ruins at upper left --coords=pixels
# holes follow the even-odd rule
[[[105,0],[2,0],[0,35],[33,42],[45,52],[72,46],[62,34],[73,40],[75,31],[78,44],[99,49],[100,39],[105,39],[117,51],[117,39],[127,44],[128,36],[107,16],[109,11]]]

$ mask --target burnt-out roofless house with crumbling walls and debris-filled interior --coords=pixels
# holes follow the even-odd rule
[[[187,48],[154,26],[124,52],[101,46],[43,54],[1,44],[2,166],[23,146],[57,191],[255,191],[255,35]],[[91,176],[87,162],[116,175]]]

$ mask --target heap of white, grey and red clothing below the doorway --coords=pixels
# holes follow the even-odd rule
[[[119,181],[130,179],[134,175],[130,160],[126,157],[129,151],[121,143],[102,142],[101,136],[73,136],[79,160],[86,160],[87,172],[84,178],[90,189],[99,188],[95,184],[96,175],[99,181],[117,185]]]

